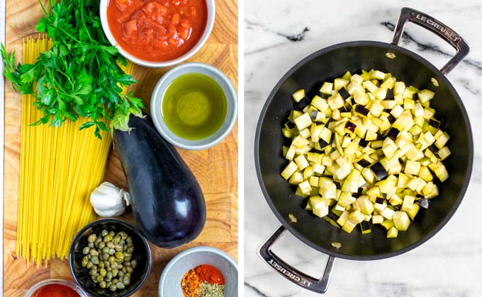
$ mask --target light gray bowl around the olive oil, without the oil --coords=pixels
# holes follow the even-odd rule
[[[164,117],[162,116],[162,100],[169,84],[175,78],[191,73],[205,74],[206,76],[213,78],[221,86],[221,88],[223,88],[228,107],[224,122],[218,131],[211,136],[198,140],[189,140],[177,136],[171,130],[169,130],[164,122]],[[219,69],[203,63],[186,63],[167,71],[166,74],[159,79],[154,91],[152,91],[150,105],[152,122],[154,122],[157,131],[164,137],[164,139],[169,141],[169,143],[173,144],[174,146],[189,150],[206,149],[218,144],[226,136],[228,136],[236,122],[237,117],[236,91],[232,86],[231,81]]]

